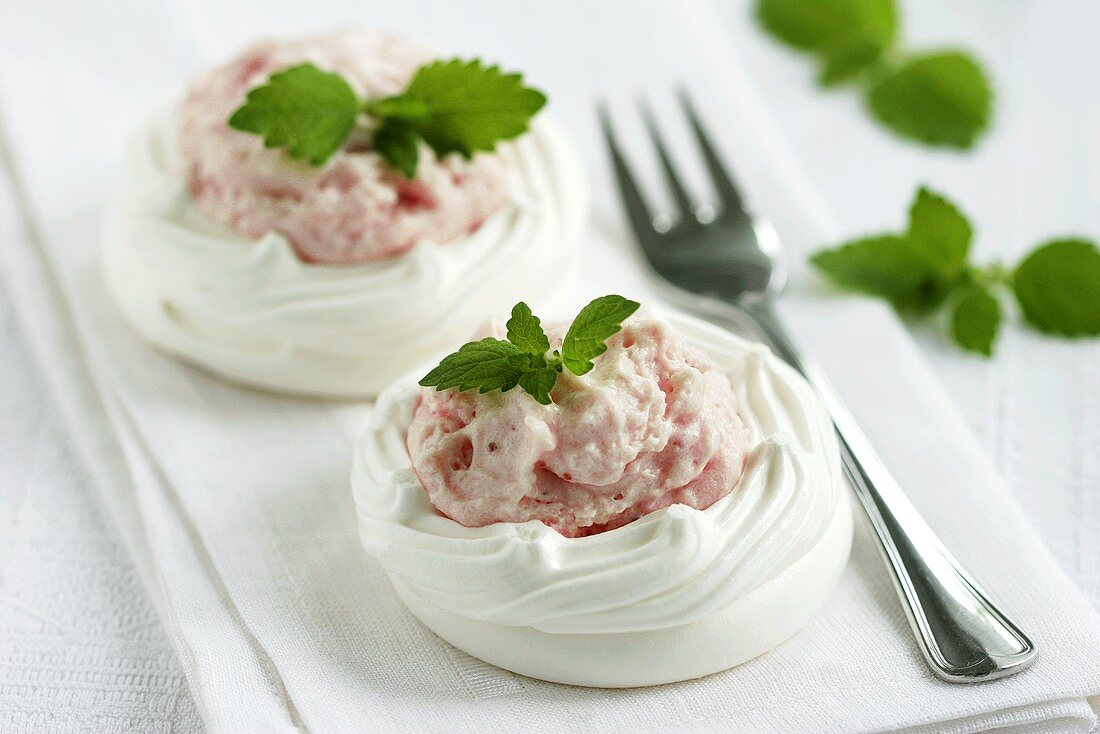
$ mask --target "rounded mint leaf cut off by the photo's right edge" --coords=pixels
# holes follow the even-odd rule
[[[1100,335],[1100,250],[1088,240],[1047,242],[1024,258],[1013,277],[1024,317],[1065,337]]]

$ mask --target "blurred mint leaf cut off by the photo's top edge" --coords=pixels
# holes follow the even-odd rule
[[[773,36],[817,56],[825,86],[872,65],[898,33],[894,0],[759,0],[756,14]]]

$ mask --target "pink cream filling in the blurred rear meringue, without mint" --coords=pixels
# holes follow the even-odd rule
[[[439,158],[418,143],[409,178],[370,143],[356,120],[323,166],[288,161],[226,122],[250,90],[276,72],[310,63],[339,74],[360,99],[400,94],[433,56],[400,36],[369,29],[262,41],[196,79],[179,107],[179,157],[195,207],[242,237],[283,234],[306,262],[361,264],[475,232],[507,199],[498,155]]]

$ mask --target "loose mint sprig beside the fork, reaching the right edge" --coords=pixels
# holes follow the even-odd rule
[[[958,207],[922,187],[905,232],[854,240],[816,252],[810,261],[837,285],[884,298],[903,314],[926,314],[948,304],[952,337],[987,357],[1010,292],[1024,319],[1041,331],[1100,336],[1100,249],[1093,242],[1052,240],[1013,270],[971,263],[972,235]]]

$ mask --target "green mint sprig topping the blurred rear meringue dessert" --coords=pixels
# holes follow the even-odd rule
[[[546,101],[541,91],[524,86],[519,74],[505,74],[480,59],[432,62],[417,70],[402,94],[365,101],[339,74],[306,63],[250,90],[229,127],[320,166],[364,116],[374,131],[374,150],[414,178],[420,141],[439,156],[469,158],[525,133]]]

